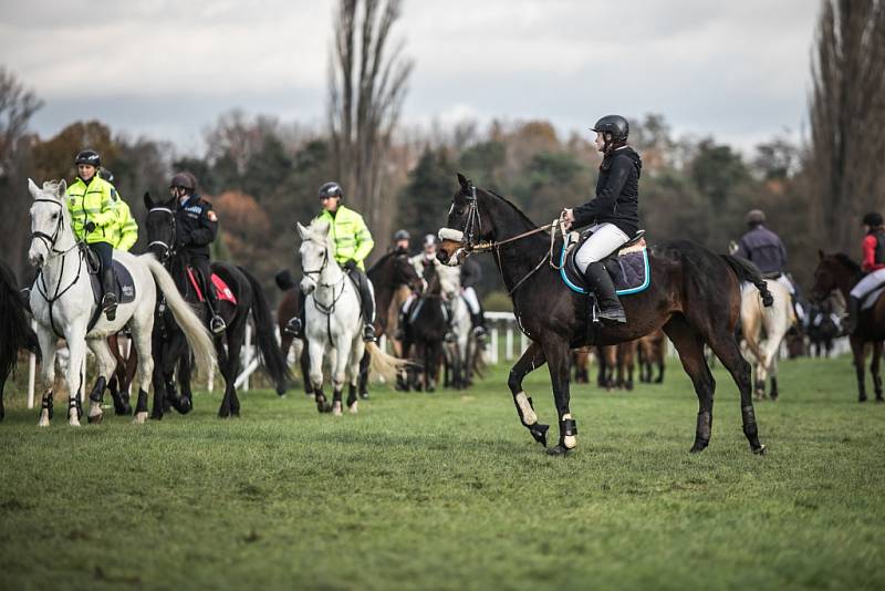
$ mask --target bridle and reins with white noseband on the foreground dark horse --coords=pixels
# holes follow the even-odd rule
[[[553,246],[556,241],[556,231],[559,230],[562,236],[565,236],[565,219],[561,215],[559,218],[554,219],[550,224],[544,226],[540,226],[538,228],[531,229],[529,231],[524,231],[517,236],[511,236],[510,238],[506,238],[503,240],[486,240],[480,241],[480,234],[482,229],[482,218],[479,214],[479,207],[477,206],[477,188],[470,184],[470,193],[469,195],[465,196],[467,199],[467,214],[464,221],[464,227],[460,230],[455,230],[451,228],[442,228],[439,230],[439,238],[442,240],[452,240],[456,242],[460,242],[462,246],[458,248],[451,256],[458,259],[458,257],[464,256],[465,258],[469,257],[475,252],[494,252],[497,255],[496,259],[498,260],[498,265],[500,267],[501,260],[501,247],[507,245],[508,242],[514,242],[517,240],[521,240],[522,238],[527,238],[529,236],[541,234],[546,230],[550,230],[550,248],[548,249],[546,253],[538,261],[531,271],[525,274],[522,279],[517,281],[517,283],[508,291],[508,296],[512,296],[513,292],[519,289],[522,283],[525,282],[531,276],[533,276],[543,265],[545,261],[550,261],[550,266],[559,270],[560,267],[553,262]],[[454,204],[452,204],[454,206]]]

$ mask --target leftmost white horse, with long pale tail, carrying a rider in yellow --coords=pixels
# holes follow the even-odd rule
[[[31,290],[31,310],[38,322],[37,334],[43,353],[42,377],[46,385],[38,425],[46,427],[52,418],[55,341],[59,336],[67,341],[70,352],[65,372],[69,388],[67,423],[80,426],[83,413],[80,400],[85,379],[83,373],[86,346],[95,354],[98,366],[98,380],[90,394],[88,422],[97,423],[102,419],[102,395],[116,366],[106,339],[119,332],[126,324],[132,330],[133,342],[138,352],[140,384],[135,422],[144,423],[147,418],[147,394],[154,366],[150,333],[154,328],[157,286],[185,331],[197,366],[202,372],[211,371],[215,364],[212,340],[199,318],[178,293],[169,273],[153,255],[135,257],[119,251],[114,252],[114,258],[132,274],[135,300],[121,303],[113,322],[100,313],[95,325],[87,330],[98,304],[95,303],[90,284],[85,247],[75,240],[71,229],[71,217],[64,196],[66,188],[64,180],[44,183],[42,189],[33,180],[28,180],[28,189],[34,199],[31,206],[31,248],[28,258],[31,265],[40,268],[40,274]]]

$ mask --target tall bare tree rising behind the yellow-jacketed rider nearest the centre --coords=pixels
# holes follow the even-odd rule
[[[339,180],[373,232],[389,234],[393,190],[386,160],[413,61],[392,45],[399,0],[340,0],[330,60],[329,131]],[[384,239],[382,238],[382,246]]]

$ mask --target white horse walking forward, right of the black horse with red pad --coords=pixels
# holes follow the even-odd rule
[[[369,371],[383,375],[388,382],[405,362],[384,353],[375,343],[365,343],[362,338],[363,321],[360,318],[360,296],[356,286],[339,267],[335,251],[325,221],[315,221],[305,227],[298,224],[301,235],[301,266],[304,278],[301,290],[304,300],[304,335],[310,355],[310,381],[313,385],[316,409],[321,413],[342,414],[341,393],[345,380],[351,384],[347,408],[357,411],[356,385],[360,380],[360,360],[368,349]],[[332,405],[323,394],[323,359],[332,356]]]

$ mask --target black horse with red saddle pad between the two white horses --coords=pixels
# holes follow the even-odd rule
[[[145,225],[149,242],[148,250],[154,252],[157,259],[166,266],[185,300],[190,302],[198,310],[198,313],[204,313],[208,325],[208,314],[205,313],[206,308],[199,302],[197,291],[188,279],[184,257],[174,248],[176,243],[174,200],[155,204],[150,196],[145,194],[145,207],[147,208]],[[254,319],[256,342],[261,351],[264,369],[277,385],[277,393],[280,395],[285,392],[288,370],[285,359],[273,338],[270,305],[258,280],[242,267],[228,262],[215,261],[211,265],[211,270],[212,273],[227,283],[237,300],[236,305],[227,300],[219,300],[218,313],[225,319],[227,330],[222,335],[215,339],[219,369],[225,377],[225,396],[221,400],[218,416],[239,416],[240,402],[237,397],[235,382],[240,373],[240,348],[243,343],[246,323],[249,319],[250,310]],[[207,281],[211,280],[210,278],[205,279]],[[158,307],[160,309],[157,313],[153,335],[155,359],[152,418],[163,417],[167,397],[168,403],[179,413],[185,414],[194,406],[190,391],[190,352],[187,349],[187,342],[170,312],[163,309],[162,300]],[[225,344],[227,344],[227,348],[225,348]],[[179,361],[178,382],[181,387],[181,396],[178,396],[175,391],[175,382],[173,380],[176,364]]]

